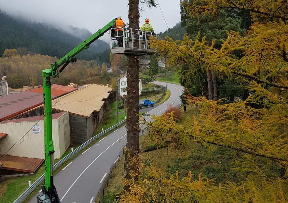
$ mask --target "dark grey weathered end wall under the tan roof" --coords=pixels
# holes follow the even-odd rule
[[[70,141],[73,145],[79,145],[87,141],[86,118],[69,114]]]

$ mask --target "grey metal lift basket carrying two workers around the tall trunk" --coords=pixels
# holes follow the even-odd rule
[[[140,55],[151,55],[155,51],[149,48],[148,40],[149,36],[157,38],[157,34],[147,32],[138,29],[132,29],[128,27],[122,27],[123,35],[115,36],[115,29],[110,29],[110,49],[112,54],[125,54],[128,56],[140,56]],[[142,37],[140,35],[142,32]],[[147,37],[148,36],[148,37]],[[123,39],[123,47],[118,46],[118,40]]]

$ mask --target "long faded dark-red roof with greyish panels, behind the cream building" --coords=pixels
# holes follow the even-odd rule
[[[52,95],[52,99],[57,96]],[[23,91],[0,97],[0,122],[43,104],[43,94]]]

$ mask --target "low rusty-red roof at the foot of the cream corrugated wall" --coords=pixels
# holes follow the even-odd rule
[[[1,169],[7,169],[12,171],[34,173],[43,161],[44,159],[42,158],[29,158],[0,154],[0,162],[3,163]]]

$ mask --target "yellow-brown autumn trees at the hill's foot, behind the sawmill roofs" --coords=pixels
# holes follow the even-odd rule
[[[0,75],[7,75],[7,83],[11,88],[42,85],[41,71],[50,69],[50,63],[58,60],[56,57],[40,54],[20,56],[16,49],[6,50],[4,53],[5,57],[0,57]],[[69,85],[69,83],[79,83],[91,77],[105,78],[109,81],[110,74],[107,72],[107,66],[104,63],[99,64],[96,60],[77,60],[76,63],[69,63],[60,77],[52,78],[51,82]]]

